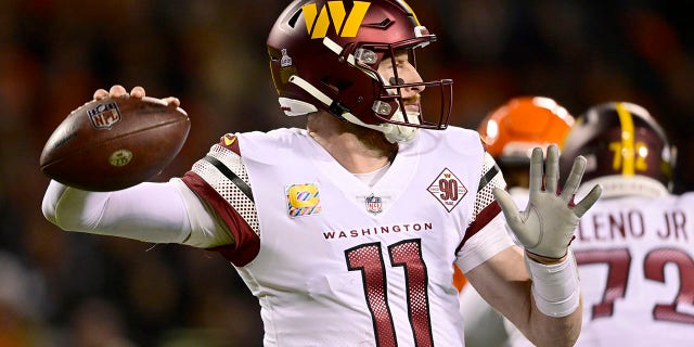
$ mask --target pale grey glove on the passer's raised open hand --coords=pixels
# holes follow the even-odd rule
[[[553,259],[561,259],[566,255],[579,218],[593,206],[602,193],[602,187],[595,185],[581,202],[573,205],[574,194],[586,169],[586,158],[578,156],[574,160],[571,174],[561,194],[557,191],[558,160],[558,147],[552,144],[548,147],[547,175],[544,175],[542,149],[532,150],[530,197],[523,211],[518,210],[506,191],[499,188],[493,190],[509,227],[525,249]]]

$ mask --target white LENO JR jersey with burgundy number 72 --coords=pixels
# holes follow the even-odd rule
[[[600,200],[571,243],[583,325],[576,346],[691,346],[694,193]]]

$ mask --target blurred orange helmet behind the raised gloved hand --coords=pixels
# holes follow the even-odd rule
[[[489,113],[477,131],[500,165],[525,170],[534,147],[560,145],[571,125],[574,117],[553,99],[518,97]]]

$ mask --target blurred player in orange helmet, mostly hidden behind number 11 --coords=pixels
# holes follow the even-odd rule
[[[573,125],[574,117],[555,100],[529,95],[510,99],[480,121],[477,131],[487,153],[503,171],[509,193],[517,206],[525,206],[528,201],[532,149],[562,143]],[[511,323],[504,322],[473,286],[462,288],[460,300],[468,347],[507,344],[506,329],[513,329]]]

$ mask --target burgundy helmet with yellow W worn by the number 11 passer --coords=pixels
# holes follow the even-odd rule
[[[448,125],[452,80],[406,82],[395,68],[396,52],[408,52],[414,65],[414,49],[435,40],[402,0],[296,0],[275,22],[267,46],[272,80],[286,115],[324,110],[383,131],[395,142],[410,140],[417,128]],[[393,78],[377,72],[384,59],[393,60]],[[419,112],[406,112],[402,91],[407,88],[438,90],[437,114],[425,119],[421,106]]]

